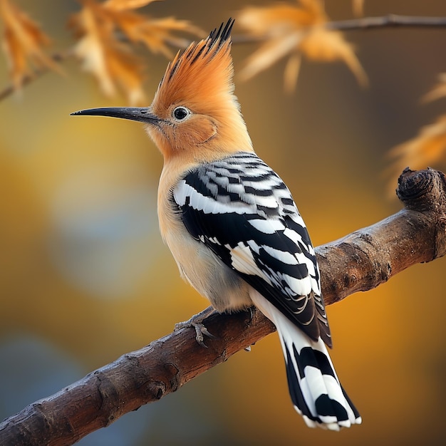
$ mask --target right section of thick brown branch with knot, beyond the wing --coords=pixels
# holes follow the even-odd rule
[[[326,305],[446,254],[445,175],[405,169],[396,192],[400,212],[316,249]]]

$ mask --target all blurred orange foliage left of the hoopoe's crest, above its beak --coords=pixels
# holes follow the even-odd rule
[[[115,95],[120,87],[130,103],[145,102],[142,62],[128,42],[140,43],[153,53],[172,56],[167,43],[185,45],[185,41],[175,37],[172,31],[202,35],[199,28],[187,21],[172,17],[152,19],[134,11],[153,1],[81,0],[81,10],[68,16],[68,27],[76,39],[71,52],[81,60],[83,69],[95,76],[105,95]],[[49,38],[35,21],[11,0],[0,1],[0,16],[4,21],[6,58],[16,89],[25,78],[35,76],[31,63],[37,68],[57,68],[53,59],[42,50],[48,45]],[[67,53],[58,58],[66,56]]]

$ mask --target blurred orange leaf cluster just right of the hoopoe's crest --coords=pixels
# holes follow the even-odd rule
[[[294,90],[301,57],[313,61],[343,61],[361,85],[368,80],[353,47],[340,31],[326,28],[328,16],[319,0],[296,0],[296,5],[249,6],[240,11],[238,23],[250,36],[265,40],[247,60],[240,76],[252,78],[280,58],[289,56],[284,73],[285,89]]]

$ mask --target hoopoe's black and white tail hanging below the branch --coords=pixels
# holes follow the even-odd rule
[[[309,427],[340,430],[361,424],[361,417],[344,392],[322,339],[313,341],[257,291],[254,305],[277,328],[286,362],[294,408]]]

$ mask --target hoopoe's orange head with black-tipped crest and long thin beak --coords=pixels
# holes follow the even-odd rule
[[[191,43],[169,63],[155,98],[147,108],[92,108],[73,115],[101,115],[146,124],[165,159],[209,160],[252,150],[233,94],[230,33],[234,20]]]

